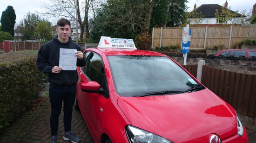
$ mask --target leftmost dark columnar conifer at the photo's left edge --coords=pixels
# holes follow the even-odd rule
[[[12,22],[8,16],[8,13],[6,11],[3,11],[2,12],[2,16],[1,16],[1,31],[4,31],[4,32],[8,32],[12,35]]]

